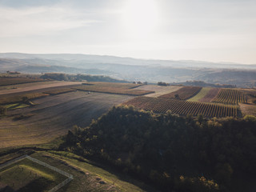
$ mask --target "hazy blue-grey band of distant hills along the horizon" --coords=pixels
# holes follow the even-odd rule
[[[256,65],[146,60],[88,54],[0,54],[0,71],[107,75],[126,81],[203,81],[238,87],[256,86]]]

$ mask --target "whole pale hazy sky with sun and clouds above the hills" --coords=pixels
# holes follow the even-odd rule
[[[255,0],[0,0],[0,52],[256,64]]]

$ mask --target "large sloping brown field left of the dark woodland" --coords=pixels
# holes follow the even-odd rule
[[[129,98],[77,91],[35,99],[37,106],[8,110],[0,118],[0,148],[50,142],[74,125],[90,125],[93,118]]]

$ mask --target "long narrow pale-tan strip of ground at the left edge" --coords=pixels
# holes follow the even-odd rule
[[[42,90],[42,89],[55,87],[55,86],[72,86],[72,85],[80,85],[80,84],[82,84],[82,82],[54,82],[46,85],[20,87],[14,90],[0,90],[0,94],[15,94],[15,93],[20,93],[20,92],[25,92],[30,90]]]

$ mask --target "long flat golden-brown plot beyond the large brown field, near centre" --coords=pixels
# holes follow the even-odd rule
[[[106,94],[126,94],[132,96],[152,94],[154,91],[150,90],[138,90],[132,89],[138,85],[132,83],[110,83],[110,82],[98,82],[93,84],[86,84],[82,86],[76,86],[74,89],[83,91],[93,91]]]

